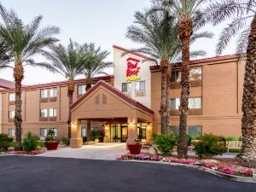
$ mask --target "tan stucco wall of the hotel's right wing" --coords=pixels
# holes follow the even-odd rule
[[[202,97],[202,115],[189,115],[188,125],[202,125],[202,131],[224,137],[241,136],[241,98],[244,61],[236,60],[193,64],[202,67],[202,86],[190,87],[190,97]],[[178,68],[174,68],[177,70]],[[153,71],[152,110],[154,132],[160,132],[160,71]],[[179,98],[180,89],[170,89],[170,98]],[[179,125],[171,116],[170,125]]]

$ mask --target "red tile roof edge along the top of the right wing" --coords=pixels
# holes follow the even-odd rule
[[[233,60],[237,59],[238,55],[224,55],[224,56],[214,56],[214,57],[209,57],[209,58],[204,58],[204,59],[199,59],[199,60],[192,60],[190,61],[190,65],[195,65],[195,64],[201,64],[201,63],[206,63],[206,62],[215,62],[215,61],[225,61],[225,60]],[[177,62],[175,67],[180,67],[182,62]],[[150,70],[157,70],[159,69],[160,66],[151,66]]]

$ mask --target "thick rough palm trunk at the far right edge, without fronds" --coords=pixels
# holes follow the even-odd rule
[[[256,168],[256,15],[248,38],[242,96],[241,165]]]

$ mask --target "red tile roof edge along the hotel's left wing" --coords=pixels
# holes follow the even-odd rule
[[[111,80],[113,79],[113,75],[106,75],[106,76],[99,76],[92,79],[93,82],[97,82],[99,80]],[[68,81],[59,81],[59,82],[53,82],[48,84],[32,84],[32,85],[26,85],[23,86],[21,90],[32,90],[32,89],[41,89],[45,87],[52,87],[52,86],[60,86],[60,85],[67,85]],[[75,79],[75,84],[85,84],[85,79]],[[14,88],[11,88],[14,90]],[[9,90],[8,90],[9,91]],[[4,90],[3,90],[4,92]]]

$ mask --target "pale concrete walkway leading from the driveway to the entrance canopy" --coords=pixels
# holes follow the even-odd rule
[[[122,154],[127,154],[126,143],[97,143],[84,145],[82,148],[59,148],[37,156],[62,157],[90,160],[116,160]]]

